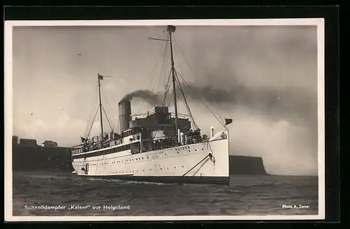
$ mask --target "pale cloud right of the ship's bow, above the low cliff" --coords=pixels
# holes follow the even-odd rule
[[[317,175],[317,152],[306,128],[286,120],[240,114],[230,131],[231,154],[261,156],[275,175]]]

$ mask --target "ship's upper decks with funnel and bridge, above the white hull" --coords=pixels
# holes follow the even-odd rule
[[[178,130],[176,130],[176,115],[169,112],[169,108],[165,106],[154,107],[146,113],[132,115],[130,101],[120,101],[118,105],[121,132],[111,131],[90,139],[82,138],[81,145],[72,147],[72,154],[94,152],[110,147],[120,147],[118,151],[135,147],[134,152],[141,152],[153,149],[155,142],[158,141],[180,142],[180,133],[189,133],[190,138],[191,122],[186,114],[178,114]],[[125,147],[125,145],[130,146]]]

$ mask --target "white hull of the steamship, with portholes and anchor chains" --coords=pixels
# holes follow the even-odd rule
[[[225,132],[226,136],[228,132]],[[211,155],[209,155],[211,154]],[[73,158],[78,175],[150,182],[229,183],[228,138],[131,154]]]

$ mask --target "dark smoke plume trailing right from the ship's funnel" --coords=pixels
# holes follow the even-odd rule
[[[290,87],[283,90],[262,87],[252,89],[243,84],[223,89],[187,84],[186,87],[183,86],[182,91],[191,101],[212,103],[221,110],[232,110],[239,105],[255,114],[265,114],[276,121],[286,119],[298,125],[306,124],[312,127],[317,125],[317,96],[316,92],[310,90]],[[180,89],[176,91],[179,101],[182,91]],[[125,95],[123,100],[131,101],[133,98],[141,98],[154,105],[160,102],[162,95],[149,90],[137,90]],[[172,98],[172,93],[169,93],[167,98]]]

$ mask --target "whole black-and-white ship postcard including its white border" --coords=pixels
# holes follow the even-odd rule
[[[6,221],[325,218],[322,18],[6,21],[5,55]]]

